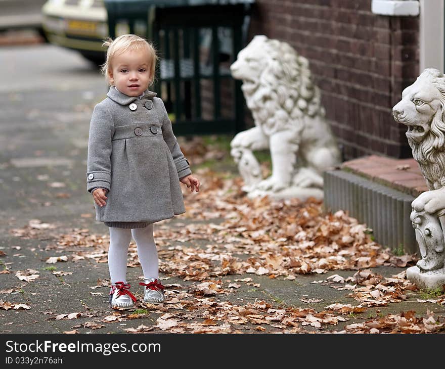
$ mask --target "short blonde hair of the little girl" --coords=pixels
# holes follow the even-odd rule
[[[158,61],[158,56],[156,55],[156,50],[153,47],[153,44],[147,41],[145,38],[142,38],[136,34],[123,34],[119,37],[116,37],[114,40],[111,38],[106,38],[102,47],[106,47],[107,49],[107,59],[105,63],[101,66],[101,72],[105,75],[108,84],[110,83],[110,70],[112,68],[111,63],[113,58],[117,55],[120,55],[128,50],[147,50],[149,55],[149,60],[151,62],[149,71],[151,80],[149,86],[153,84],[156,62]]]

